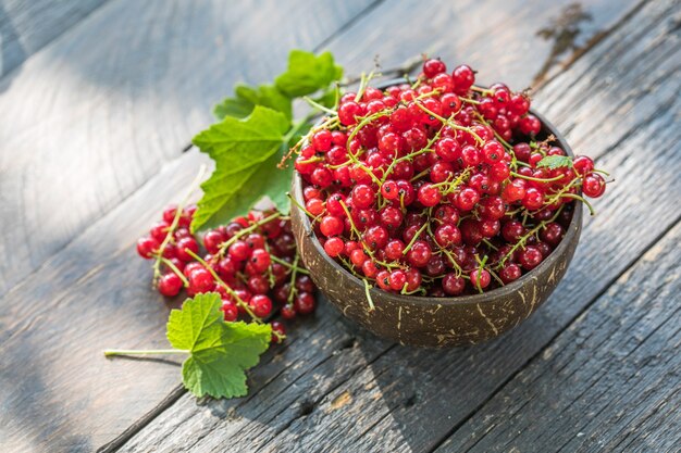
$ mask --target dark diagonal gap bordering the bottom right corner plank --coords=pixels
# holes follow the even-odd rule
[[[544,354],[544,352],[546,351],[546,349],[550,348],[550,345],[554,343],[554,341],[556,341],[556,339],[562,334],[565,332],[566,329],[568,329],[572,324],[574,324],[574,322],[582,316],[587,310],[590,310],[592,307],[592,305],[594,303],[596,303],[598,301],[598,299],[600,299],[605,293],[607,293],[607,291],[610,289],[610,287],[612,285],[615,285],[617,282],[617,280],[619,280],[621,278],[622,275],[627,274],[632,267],[634,267],[639,261],[641,261],[641,259],[648,253],[655,246],[657,246],[657,243],[664,239],[665,236],[667,236],[667,234],[669,234],[669,231],[671,231],[673,228],[676,228],[679,224],[681,224],[681,215],[679,215],[670,225],[669,227],[665,228],[665,230],[663,230],[659,235],[657,235],[655,237],[655,239],[653,239],[653,241],[651,241],[651,243],[642,250],[641,254],[639,254],[639,256],[634,257],[633,260],[631,260],[631,262],[629,262],[627,264],[627,267],[624,267],[620,273],[618,273],[616,276],[614,276],[612,278],[610,278],[607,282],[607,285],[598,292],[596,293],[591,301],[589,301],[589,303],[586,305],[584,305],[584,307],[582,310],[580,310],[574,316],[572,316],[572,318],[570,318],[570,320],[568,323],[566,323],[565,327],[556,332],[547,342],[546,344],[540,349],[534,355],[532,355],[531,357],[529,357],[522,365],[520,365],[518,367],[518,369],[512,373],[508,378],[506,378],[499,386],[497,386],[497,388],[490,393],[490,395],[487,398],[485,398],[480,404],[478,404],[463,419],[461,419],[459,423],[457,423],[449,431],[447,431],[434,445],[433,448],[431,448],[428,453],[433,453],[434,451],[436,451],[439,446],[442,446],[443,443],[445,443],[445,441],[447,441],[447,439],[449,439],[456,431],[459,430],[459,428],[461,428],[463,425],[466,425],[468,423],[468,420],[470,420],[478,412],[480,412],[480,410],[482,407],[484,407],[490,401],[492,401],[494,399],[494,397],[496,397],[502,390],[504,390],[504,388],[513,379],[516,379],[516,377],[523,372],[532,362],[534,362],[537,357],[542,356],[542,354]]]

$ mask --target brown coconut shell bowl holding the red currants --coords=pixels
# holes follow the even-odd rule
[[[543,136],[553,135],[572,156],[570,147],[541,114]],[[295,173],[295,172],[294,172]],[[582,205],[573,203],[572,219],[556,249],[519,279],[490,291],[451,298],[403,295],[366,288],[364,282],[330,257],[315,237],[304,205],[302,180],[295,173],[292,196],[293,230],[301,259],[314,284],[347,318],[379,337],[405,345],[450,348],[495,338],[518,326],[536,311],[562,279],[580,238]],[[368,303],[370,292],[374,309]]]

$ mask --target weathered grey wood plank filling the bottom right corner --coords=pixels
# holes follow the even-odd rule
[[[437,452],[681,444],[681,224]]]

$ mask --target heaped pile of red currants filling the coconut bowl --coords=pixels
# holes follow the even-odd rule
[[[605,191],[524,92],[428,60],[413,84],[348,92],[294,149],[325,252],[385,291],[434,297],[511,282],[558,246],[582,193]]]

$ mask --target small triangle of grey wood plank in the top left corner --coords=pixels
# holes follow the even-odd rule
[[[0,3],[0,77],[11,73],[103,2],[7,0]]]

